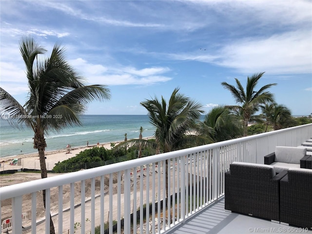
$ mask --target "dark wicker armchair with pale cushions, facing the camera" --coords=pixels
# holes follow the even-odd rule
[[[300,168],[300,160],[307,155],[307,149],[276,146],[275,152],[264,156],[264,164],[272,165],[276,173],[289,168]]]

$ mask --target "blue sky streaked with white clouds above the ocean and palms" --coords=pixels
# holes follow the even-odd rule
[[[147,114],[140,102],[176,87],[209,112],[234,105],[221,82],[265,72],[292,115],[312,113],[312,1],[0,1],[0,86],[27,97],[20,37],[32,35],[112,98],[86,114]]]

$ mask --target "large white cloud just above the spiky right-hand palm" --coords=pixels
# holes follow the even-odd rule
[[[311,31],[295,31],[265,39],[243,39],[222,48],[217,65],[243,73],[312,73]]]

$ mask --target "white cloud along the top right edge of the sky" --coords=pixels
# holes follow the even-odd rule
[[[311,21],[311,1],[308,0],[296,0],[292,3],[282,0],[189,0],[185,2],[189,3],[192,8],[201,9],[202,11],[212,9],[218,15],[227,19],[229,23],[233,22],[234,24],[242,23],[246,25],[246,20],[254,22],[254,19],[262,25],[267,23],[296,25]]]

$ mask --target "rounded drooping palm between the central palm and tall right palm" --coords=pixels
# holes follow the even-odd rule
[[[217,106],[200,122],[199,134],[210,137],[212,142],[229,140],[242,136],[242,125],[228,107]]]

